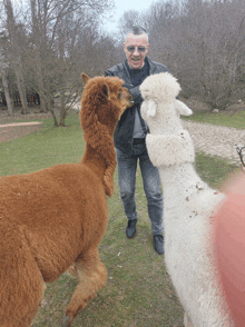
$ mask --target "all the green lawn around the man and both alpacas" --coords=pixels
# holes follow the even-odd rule
[[[85,150],[78,115],[70,116],[67,125],[67,128],[55,128],[52,119],[48,119],[38,132],[0,143],[0,175],[24,174],[56,164],[78,162]],[[220,185],[237,169],[227,160],[204,153],[197,155],[196,168],[213,187]],[[74,327],[184,326],[183,309],[167,275],[164,257],[153,248],[139,170],[136,182],[138,232],[134,239],[127,239],[127,220],[119,198],[117,171],[115,174],[115,195],[108,200],[108,230],[99,249],[108,269],[108,281],[78,314]],[[66,274],[48,284],[32,326],[60,326],[75,287],[76,280]]]

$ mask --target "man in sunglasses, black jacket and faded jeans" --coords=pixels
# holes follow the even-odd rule
[[[147,126],[140,116],[143,98],[139,86],[144,79],[154,73],[167,71],[166,66],[151,61],[146,57],[149,49],[148,36],[140,27],[133,27],[127,34],[124,51],[126,60],[108,69],[106,76],[118,76],[134,98],[134,106],[128,108],[117,123],[114,142],[118,161],[120,197],[128,218],[126,235],[136,235],[137,210],[135,202],[137,161],[141,170],[144,189],[147,197],[148,215],[151,221],[154,248],[164,254],[163,237],[163,197],[160,178],[156,167],[149,160],[146,149]]]

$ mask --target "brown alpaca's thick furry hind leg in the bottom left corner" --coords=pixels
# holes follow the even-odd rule
[[[21,256],[19,256],[20,258]],[[0,267],[1,268],[1,267]],[[0,274],[0,326],[29,327],[40,306],[45,283],[33,258]]]

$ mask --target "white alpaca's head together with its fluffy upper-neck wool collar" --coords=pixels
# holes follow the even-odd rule
[[[193,142],[179,119],[179,115],[188,116],[193,111],[176,100],[180,91],[176,78],[168,72],[151,75],[139,89],[144,98],[141,116],[150,130],[146,146],[153,165],[163,168],[193,162]]]

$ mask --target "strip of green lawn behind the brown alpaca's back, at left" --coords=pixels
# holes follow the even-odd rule
[[[85,149],[79,116],[67,119],[67,127],[53,127],[52,118],[43,128],[24,138],[0,143],[0,176],[31,172],[56,164],[77,162]]]

